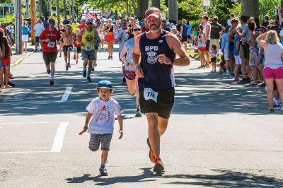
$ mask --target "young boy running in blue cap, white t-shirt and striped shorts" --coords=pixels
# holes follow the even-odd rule
[[[122,139],[123,136],[122,108],[116,100],[111,98],[113,90],[112,83],[110,81],[100,81],[98,83],[97,91],[99,97],[93,99],[86,107],[88,114],[86,115],[86,122],[83,127],[83,131],[81,131],[79,135],[82,135],[88,130],[88,133],[91,134],[91,139],[89,141],[89,149],[91,151],[97,151],[101,142],[100,149],[102,153],[99,172],[100,175],[108,175],[105,163],[108,158],[110,141],[112,139],[114,129],[114,114],[117,115],[120,125],[119,139]]]

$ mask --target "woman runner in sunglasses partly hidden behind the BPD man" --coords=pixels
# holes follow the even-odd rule
[[[139,108],[139,91],[137,90],[138,79],[135,74],[134,63],[132,62],[132,52],[134,50],[134,42],[137,39],[137,36],[140,34],[141,34],[141,26],[136,24],[132,28],[130,28],[128,33],[129,39],[125,43],[122,52],[120,53],[120,58],[125,64],[124,74],[127,81],[129,94],[134,95],[134,93],[136,93],[136,102],[137,102],[136,117],[141,117],[141,112]]]

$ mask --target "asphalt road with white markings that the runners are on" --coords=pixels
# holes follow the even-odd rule
[[[166,172],[158,176],[146,118],[134,117],[117,51],[114,60],[107,57],[98,53],[92,83],[82,77],[81,60],[65,71],[58,57],[50,86],[40,52],[11,69],[17,87],[0,93],[0,187],[283,187],[282,112],[267,114],[264,88],[233,84],[197,69],[193,59],[175,67],[175,105],[161,138]],[[89,151],[89,134],[79,136],[103,79],[112,81],[112,97],[125,112],[121,140],[115,122],[108,177],[99,176],[100,151]]]

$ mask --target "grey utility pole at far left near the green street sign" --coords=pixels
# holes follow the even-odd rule
[[[16,54],[23,54],[22,42],[22,1],[15,0],[15,39],[16,39]]]

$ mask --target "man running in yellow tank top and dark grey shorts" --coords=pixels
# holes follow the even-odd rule
[[[96,60],[94,44],[100,41],[96,29],[93,28],[93,20],[86,21],[86,28],[82,28],[79,35],[79,45],[81,45],[81,54],[83,56],[83,77],[91,82],[91,69],[93,60]],[[97,37],[97,40],[95,39]],[[88,75],[86,76],[86,66],[88,65]]]

